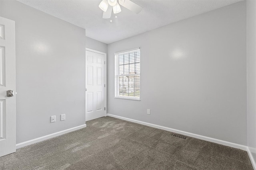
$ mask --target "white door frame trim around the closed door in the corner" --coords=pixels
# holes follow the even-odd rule
[[[105,84],[105,89],[104,89],[104,93],[105,93],[105,110],[104,110],[104,113],[105,113],[105,117],[107,116],[107,53],[103,53],[103,52],[101,52],[101,51],[97,51],[97,50],[94,50],[94,49],[89,49],[89,48],[85,48],[85,50],[86,51],[91,51],[91,52],[93,52],[93,53],[98,53],[98,54],[102,54],[102,55],[104,55],[104,71],[105,71],[105,80],[104,80],[104,84]],[[85,61],[86,62],[86,61]],[[85,69],[85,72],[86,72],[86,69]],[[86,74],[85,74],[85,78],[86,78]],[[85,107],[86,107],[86,105],[85,105]],[[85,108],[85,110],[86,110],[86,108]],[[85,114],[86,114],[86,112],[85,112]],[[85,120],[86,120],[86,117],[85,117]]]

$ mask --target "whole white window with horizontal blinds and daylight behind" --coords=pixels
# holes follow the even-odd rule
[[[140,49],[115,53],[115,98],[140,100]]]

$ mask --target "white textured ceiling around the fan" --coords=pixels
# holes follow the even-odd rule
[[[101,0],[18,1],[83,27],[86,36],[109,44],[242,0],[132,0],[143,7],[142,12],[135,14],[121,6],[112,23],[102,19]]]

